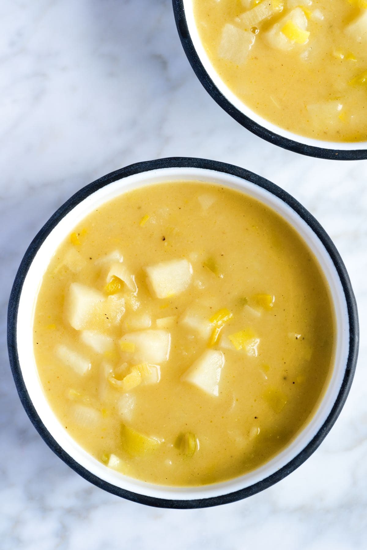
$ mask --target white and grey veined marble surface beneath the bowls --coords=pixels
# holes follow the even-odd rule
[[[2,0],[0,21],[0,547],[364,550],[367,163],[283,151],[229,118],[196,80],[169,0]],[[164,156],[239,164],[292,193],[335,240],[360,313],[354,385],[320,449],[267,491],[199,511],[133,504],[70,470],[28,420],[6,350],[10,287],[37,230],[93,179]]]

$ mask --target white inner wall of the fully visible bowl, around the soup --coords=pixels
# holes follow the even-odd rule
[[[298,437],[267,464],[249,474],[215,485],[190,488],[163,487],[128,478],[119,474],[117,471],[108,469],[81,448],[80,445],[69,436],[67,430],[63,428],[48,404],[37,373],[32,342],[35,297],[39,292],[43,273],[45,273],[48,263],[59,244],[67,237],[72,228],[94,210],[94,208],[97,208],[103,204],[103,202],[113,199],[113,197],[118,196],[124,191],[154,183],[172,182],[174,185],[175,182],[182,182],[184,180],[200,180],[203,182],[226,185],[230,188],[243,191],[280,213],[288,223],[297,229],[298,233],[303,237],[319,261],[330,286],[335,309],[337,332],[336,359],[330,382],[315,415]],[[37,414],[47,431],[51,433],[56,442],[77,463],[101,480],[111,483],[116,487],[126,489],[127,491],[162,499],[191,500],[218,497],[249,487],[256,482],[264,480],[282,466],[288,464],[289,461],[306,447],[324,425],[335,404],[339,390],[341,389],[349,353],[349,321],[346,297],[331,257],[326,251],[324,244],[321,243],[310,226],[298,215],[298,213],[288,206],[286,202],[283,202],[280,198],[261,186],[250,183],[235,175],[203,168],[162,168],[129,175],[128,177],[124,177],[123,179],[103,186],[76,204],[76,206],[57,223],[56,227],[51,230],[41,244],[39,250],[36,252],[34,260],[31,262],[28,273],[26,273],[25,276],[17,315],[17,348],[21,375],[23,376],[26,389],[28,390]]]

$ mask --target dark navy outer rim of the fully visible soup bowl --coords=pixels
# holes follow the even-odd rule
[[[31,401],[28,389],[26,388],[23,375],[21,373],[21,367],[18,357],[17,317],[19,300],[23,289],[23,284],[29,268],[32,264],[32,261],[34,260],[37,251],[40,249],[43,241],[45,241],[48,234],[51,233],[52,229],[57,226],[57,224],[62,220],[65,215],[67,215],[69,211],[73,210],[76,205],[78,205],[81,201],[86,199],[86,197],[88,197],[98,189],[110,183],[116,182],[117,180],[126,178],[130,175],[140,174],[143,172],[147,173],[164,168],[209,169],[211,171],[221,172],[224,174],[232,174],[260,186],[261,188],[269,191],[271,194],[281,199],[284,203],[290,206],[305,221],[306,224],[308,224],[311,230],[313,230],[313,232],[316,234],[316,237],[319,238],[321,243],[325,246],[327,253],[330,255],[331,261],[336,268],[347,304],[347,313],[349,320],[349,350],[346,370],[344,372],[341,388],[339,389],[335,403],[326,421],[324,422],[324,425],[321,426],[319,431],[315,434],[314,438],[303,448],[303,450],[298,455],[296,455],[292,460],[290,460],[286,465],[281,467],[281,469],[277,470],[275,473],[271,474],[268,477],[265,477],[263,480],[256,482],[253,485],[250,485],[238,491],[229,492],[228,494],[215,497],[188,500],[151,497],[144,494],[127,491],[126,489],[112,485],[111,483],[108,483],[105,480],[102,480],[100,477],[92,474],[89,470],[85,469],[78,462],[76,462],[76,460],[74,460],[72,456],[65,452],[65,450],[61,447],[61,445],[56,442],[52,434],[43,424]],[[70,199],[68,199],[61,207],[59,207],[56,212],[54,212],[51,218],[48,219],[45,225],[40,229],[39,233],[37,233],[36,237],[32,240],[31,244],[25,252],[23,260],[21,261],[18,272],[15,276],[8,305],[7,340],[10,367],[13,373],[15,386],[17,387],[20,401],[23,404],[23,407],[28,414],[32,424],[35,426],[42,439],[59,458],[61,458],[68,466],[70,466],[79,475],[84,477],[87,481],[93,483],[97,487],[105,489],[105,491],[116,494],[117,496],[132,500],[133,502],[148,504],[154,507],[190,509],[205,508],[234,502],[236,500],[240,500],[249,497],[255,493],[258,493],[265,488],[270,487],[277,481],[282,480],[293,470],[297,469],[298,466],[303,464],[303,462],[307,458],[309,458],[311,454],[313,454],[313,452],[316,450],[317,447],[319,447],[319,445],[324,440],[327,433],[330,431],[331,427],[335,423],[349,393],[358,356],[359,324],[357,303],[353,294],[352,285],[350,283],[346,267],[344,266],[344,263],[336,249],[336,246],[333,244],[331,238],[325,232],[325,229],[321,227],[320,223],[317,222],[316,219],[310,214],[310,212],[308,212],[308,210],[306,210],[297,200],[295,200],[286,191],[273,184],[269,180],[262,178],[261,176],[254,174],[253,172],[249,172],[244,168],[218,161],[206,160],[203,158],[168,157],[158,160],[130,164],[129,166],[120,168],[117,171],[111,172],[103,176],[102,178],[98,178],[94,182],[86,185],[85,187],[77,191],[72,197],[70,197]]]

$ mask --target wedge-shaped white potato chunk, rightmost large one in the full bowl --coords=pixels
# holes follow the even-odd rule
[[[191,365],[181,379],[194,384],[209,395],[219,395],[219,381],[223,366],[222,351],[209,349]]]

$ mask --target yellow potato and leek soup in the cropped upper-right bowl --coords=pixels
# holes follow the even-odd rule
[[[326,141],[367,139],[367,0],[192,0],[223,82],[261,117]]]

